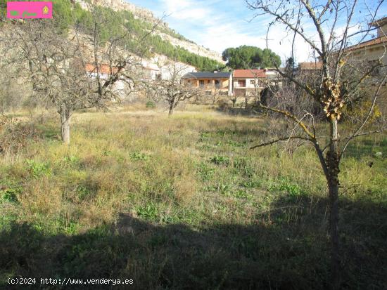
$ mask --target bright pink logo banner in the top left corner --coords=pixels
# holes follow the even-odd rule
[[[7,18],[52,18],[52,2],[7,2]]]

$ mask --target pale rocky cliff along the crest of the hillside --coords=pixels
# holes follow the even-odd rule
[[[84,2],[84,0],[75,0],[75,1],[79,3],[83,8],[87,8],[87,4]],[[125,0],[91,0],[91,1],[93,1],[94,4],[112,8],[114,11],[120,11],[120,10],[130,11],[133,13],[135,18],[144,20],[146,22],[150,22],[153,25],[158,23],[160,28],[162,28],[163,30],[170,29],[166,22],[161,21],[159,18],[153,15],[151,11],[145,8],[137,7],[134,4],[131,4]],[[182,48],[185,48],[187,51],[191,53],[195,53],[197,55],[205,56],[212,60],[217,60],[219,62],[225,63],[222,60],[222,55],[220,53],[217,53],[216,51],[210,51],[204,46],[195,44],[192,41],[177,39],[176,37],[172,37],[170,34],[167,34],[164,32],[157,31],[155,33],[160,35],[160,37],[162,37],[164,40],[169,41],[170,44],[172,44],[173,46],[180,46]]]

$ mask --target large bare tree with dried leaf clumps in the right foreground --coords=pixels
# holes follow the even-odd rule
[[[350,46],[359,44],[372,33],[370,24],[375,24],[383,0],[362,3],[357,0],[326,0],[324,3],[310,0],[246,0],[246,3],[256,13],[255,17],[272,17],[267,31],[267,43],[270,29],[281,25],[290,39],[293,39],[292,48],[298,41],[305,41],[322,62],[312,81],[309,77],[299,77],[293,70],[289,72],[277,67],[277,72],[293,91],[318,105],[320,112],[324,113],[325,122],[316,126],[317,114],[310,110],[295,112],[291,107],[260,104],[263,109],[291,120],[293,128],[288,136],[281,136],[253,148],[293,139],[305,140],[314,146],[329,189],[331,286],[332,289],[338,289],[341,283],[338,235],[340,162],[351,140],[381,131],[381,126],[372,126],[371,121],[386,82],[386,70],[382,62],[386,49],[381,52],[379,60],[367,62],[364,59],[358,60]],[[358,22],[357,16],[355,17],[355,12],[359,10],[363,12],[360,15],[363,17],[362,22]],[[383,37],[386,38],[385,35]],[[291,57],[293,58],[293,49]],[[367,91],[368,97],[364,91]],[[279,100],[286,98],[283,90],[274,91],[274,95]],[[353,126],[352,131],[342,130],[339,134],[341,126],[338,121],[345,108],[366,97],[369,100],[367,112]],[[327,124],[327,128],[320,131],[324,124]],[[327,137],[324,136],[326,131],[329,132]]]

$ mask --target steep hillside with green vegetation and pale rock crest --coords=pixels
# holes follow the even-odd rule
[[[138,39],[142,39],[158,23],[155,32],[146,37],[146,43],[142,55],[151,58],[153,55],[165,55],[167,58],[192,65],[201,71],[218,70],[224,67],[220,62],[220,55],[198,46],[185,39],[160,22],[153,13],[132,4],[120,0],[96,0],[94,1],[101,13],[108,15],[112,21],[103,25],[103,39],[122,35],[124,29],[130,32],[131,37],[125,39],[125,48],[135,51],[138,48]],[[99,5],[101,4],[101,5]],[[6,0],[0,0],[0,17],[5,18]],[[63,32],[67,32],[74,25],[84,27],[85,31],[91,31],[91,13],[87,10],[87,4],[82,0],[68,1],[56,0],[53,2],[53,18],[56,25]]]

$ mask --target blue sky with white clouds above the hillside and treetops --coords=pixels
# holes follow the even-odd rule
[[[222,53],[229,47],[241,45],[266,48],[267,26],[271,18],[255,13],[246,6],[245,0],[127,0],[136,6],[148,8],[156,16],[165,16],[165,22],[196,44]],[[317,0],[319,1],[319,0]],[[376,4],[379,0],[363,0],[366,4]],[[367,9],[359,6],[355,17],[366,14]],[[387,15],[387,3],[383,3],[379,17]],[[343,23],[342,23],[343,25]],[[338,23],[340,30],[341,23]],[[312,25],[305,25],[307,30]],[[353,27],[355,30],[355,27]],[[310,36],[317,34],[310,30]],[[291,51],[291,38],[284,27],[273,27],[269,34],[269,48],[286,60]],[[296,62],[312,60],[310,47],[302,39],[297,39]]]

